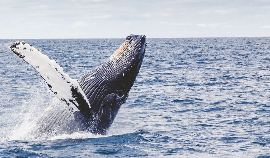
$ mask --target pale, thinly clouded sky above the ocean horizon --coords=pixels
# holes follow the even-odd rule
[[[0,39],[270,36],[270,0],[0,0]]]

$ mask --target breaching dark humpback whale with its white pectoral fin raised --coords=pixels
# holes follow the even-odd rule
[[[54,112],[59,117],[55,120],[73,122],[68,115],[72,112],[75,123],[66,126],[101,135],[108,132],[121,105],[127,100],[145,50],[146,36],[129,35],[102,65],[79,79],[72,79],[56,60],[50,60],[32,44],[15,42],[11,45],[11,51],[38,71],[53,94],[70,109],[69,112]]]

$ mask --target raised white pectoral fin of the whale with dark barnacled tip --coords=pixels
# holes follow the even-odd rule
[[[77,80],[64,73],[56,60],[50,60],[35,49],[32,44],[16,42],[11,50],[24,61],[29,63],[46,81],[48,87],[63,103],[69,106],[73,112],[89,109],[90,104]]]

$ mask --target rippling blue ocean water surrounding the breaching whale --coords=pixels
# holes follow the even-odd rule
[[[40,131],[36,139],[27,129],[56,97],[12,53],[16,41],[79,78],[124,39],[0,40],[0,157],[270,157],[270,37],[147,39],[107,135]]]

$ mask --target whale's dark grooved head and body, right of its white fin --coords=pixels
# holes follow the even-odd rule
[[[120,106],[126,101],[139,73],[146,49],[146,38],[130,35],[105,63],[79,78],[90,107],[75,112],[76,124],[83,131],[106,134]]]

